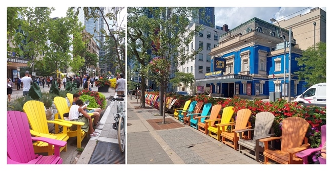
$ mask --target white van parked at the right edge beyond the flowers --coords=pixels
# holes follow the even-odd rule
[[[294,102],[302,106],[326,107],[326,83],[311,86],[301,95],[296,96]]]

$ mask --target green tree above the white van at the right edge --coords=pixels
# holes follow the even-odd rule
[[[326,43],[318,42],[316,48],[308,47],[296,61],[300,69],[295,74],[299,80],[305,80],[307,86],[326,83]]]

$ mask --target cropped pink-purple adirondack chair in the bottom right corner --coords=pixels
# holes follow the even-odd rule
[[[306,149],[304,151],[296,153],[296,156],[303,159],[303,164],[308,164],[307,157],[315,152],[321,151],[322,146],[324,145],[325,142],[326,142],[326,125],[323,125],[321,126],[321,145],[315,149]],[[326,159],[319,158],[319,162],[320,164],[326,164]]]

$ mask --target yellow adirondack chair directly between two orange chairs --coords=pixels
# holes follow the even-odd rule
[[[217,139],[218,141],[221,140],[220,135],[221,135],[221,127],[219,127],[219,125],[223,125],[223,124],[232,124],[234,123],[234,121],[232,120],[232,122],[230,122],[230,120],[232,119],[231,117],[234,114],[234,107],[229,106],[229,107],[225,107],[223,109],[223,113],[221,116],[221,119],[212,119],[212,120],[207,120],[208,123],[208,135]],[[218,124],[215,124],[215,121],[218,121]],[[227,126],[224,126],[224,129],[226,130]]]

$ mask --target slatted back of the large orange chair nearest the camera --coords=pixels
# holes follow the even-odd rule
[[[287,152],[287,149],[301,146],[308,128],[309,123],[301,117],[283,119],[281,151]]]

